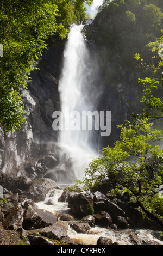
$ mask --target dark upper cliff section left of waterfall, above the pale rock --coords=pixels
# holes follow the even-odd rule
[[[52,114],[60,109],[58,81],[62,68],[64,46],[48,47],[39,62],[39,70],[32,73],[29,92],[37,99],[37,111],[30,116],[34,139],[39,142],[57,142],[52,129]]]

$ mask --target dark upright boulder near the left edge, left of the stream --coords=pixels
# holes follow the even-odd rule
[[[5,229],[17,229],[22,226],[24,209],[20,204],[14,206],[8,210],[7,217],[2,221],[2,225]]]

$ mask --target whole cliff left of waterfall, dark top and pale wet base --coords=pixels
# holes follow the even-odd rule
[[[60,110],[58,79],[64,45],[43,52],[39,68],[32,72],[28,90],[23,90],[26,123],[20,131],[6,133],[0,125],[0,170],[24,180],[51,178],[72,182],[74,172],[69,153],[58,142],[52,114]]]

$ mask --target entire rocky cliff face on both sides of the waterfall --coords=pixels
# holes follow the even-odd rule
[[[90,50],[90,62],[87,65],[91,71],[86,99],[92,102],[95,110],[111,111],[111,135],[98,137],[98,149],[116,141],[120,132],[116,125],[122,124],[140,101],[134,72],[128,72],[118,62],[120,57],[108,58],[103,44],[96,44],[97,26],[103,21],[108,22],[106,17],[109,19],[108,16],[98,15],[83,30]],[[100,40],[102,42],[103,38]],[[28,90],[23,92],[27,121],[22,129],[6,134],[1,127],[2,172],[11,176],[24,176],[27,180],[42,176],[56,182],[74,180],[70,155],[58,144],[58,133],[52,128],[52,114],[60,110],[58,80],[63,51],[63,44],[49,46],[43,52],[39,70],[32,72],[33,80]]]

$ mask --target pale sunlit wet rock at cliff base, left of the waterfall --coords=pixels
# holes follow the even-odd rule
[[[11,133],[5,139],[1,138],[0,168],[2,173],[9,175],[5,182],[6,187],[9,187],[9,179],[12,176],[18,176],[17,182],[21,182],[22,185],[23,180],[29,181],[41,177],[65,184],[72,182],[74,172],[68,151],[58,143],[35,142],[32,128],[28,124],[23,129],[21,132]],[[1,179],[2,175],[0,182]]]

